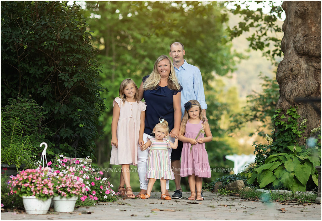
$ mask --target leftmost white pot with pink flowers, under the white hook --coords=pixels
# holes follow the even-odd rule
[[[9,180],[10,192],[23,198],[27,214],[46,214],[54,195],[49,168],[26,169]]]

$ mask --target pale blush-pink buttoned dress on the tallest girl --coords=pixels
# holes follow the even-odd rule
[[[116,135],[118,148],[112,146],[109,164],[137,165],[137,144],[141,125],[141,111],[145,111],[147,105],[143,102],[127,102],[117,97],[113,101],[120,107],[120,116]]]

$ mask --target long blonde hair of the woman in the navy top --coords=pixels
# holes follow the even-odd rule
[[[160,61],[162,61],[164,59],[167,59],[169,61],[169,64],[171,67],[170,75],[167,80],[168,88],[170,90],[176,90],[176,91],[180,90],[180,84],[178,83],[178,79],[175,75],[175,68],[173,66],[171,59],[166,55],[161,55],[160,57],[158,57],[156,59],[156,62],[154,63],[154,67],[153,67],[153,70],[152,70],[150,76],[147,78],[147,80],[143,84],[143,90],[145,90],[145,91],[155,90],[158,87],[158,84],[161,79],[161,76],[158,72],[158,64]]]

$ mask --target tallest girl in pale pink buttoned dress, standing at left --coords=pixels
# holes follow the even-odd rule
[[[137,145],[143,145],[145,103],[139,98],[132,79],[120,84],[119,97],[113,101],[112,151],[110,164],[122,165],[118,191],[121,197],[135,199],[130,185],[130,165],[137,165]],[[126,188],[124,188],[124,185]]]

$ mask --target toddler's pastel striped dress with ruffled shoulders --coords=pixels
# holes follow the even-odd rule
[[[148,137],[152,144],[147,148],[149,157],[147,159],[147,173],[145,179],[154,178],[157,180],[174,180],[175,176],[171,170],[171,163],[168,148],[169,139],[163,138],[163,142],[156,142],[155,137]]]

